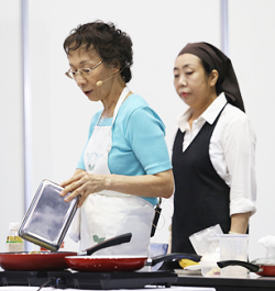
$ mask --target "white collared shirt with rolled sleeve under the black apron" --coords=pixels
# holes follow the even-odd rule
[[[227,103],[221,93],[197,119],[190,128],[187,109],[178,119],[178,127],[185,133],[183,152],[199,133],[205,122],[212,124]],[[255,213],[255,145],[256,135],[248,115],[240,109],[227,104],[213,130],[209,155],[213,168],[230,187],[230,215],[235,213]]]

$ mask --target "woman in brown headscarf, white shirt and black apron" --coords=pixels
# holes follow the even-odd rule
[[[231,61],[217,47],[187,44],[174,77],[188,109],[173,146],[172,251],[195,253],[189,236],[209,226],[248,232],[255,212],[256,137]]]

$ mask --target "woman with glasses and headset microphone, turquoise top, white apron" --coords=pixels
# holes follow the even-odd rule
[[[131,232],[130,243],[101,254],[148,255],[157,198],[169,198],[174,178],[165,127],[131,80],[132,42],[112,23],[87,23],[64,42],[73,78],[90,101],[102,102],[89,125],[75,175],[64,181],[65,201],[80,195],[72,238],[86,249]]]

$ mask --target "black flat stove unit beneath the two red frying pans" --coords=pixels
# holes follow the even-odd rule
[[[170,287],[175,272],[70,272],[65,271],[0,271],[1,286],[53,287],[59,289],[143,289],[145,286]]]

